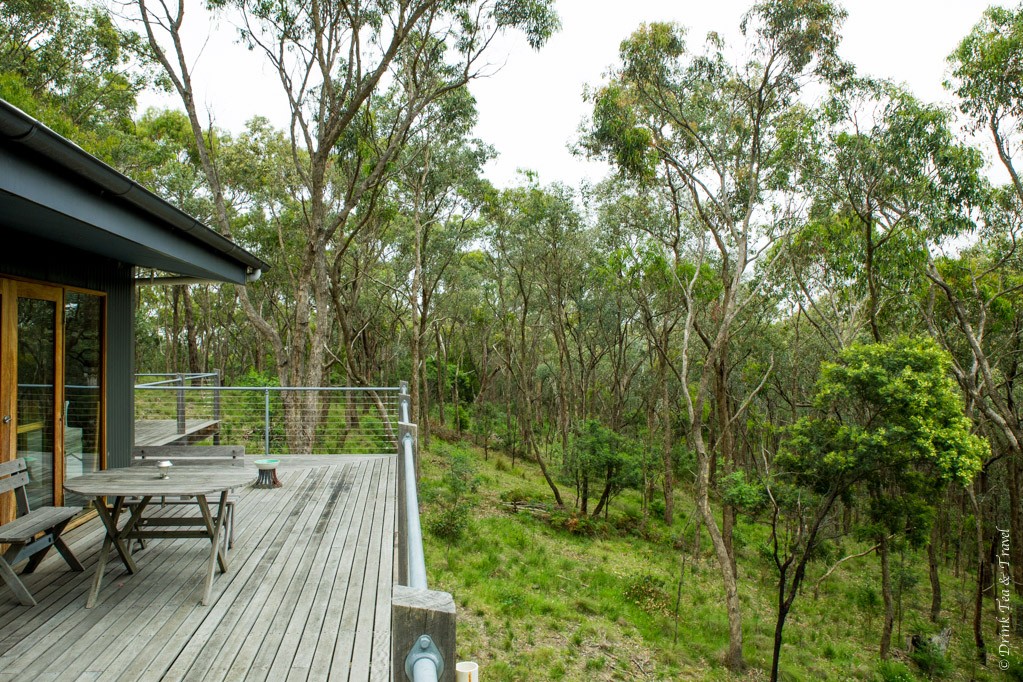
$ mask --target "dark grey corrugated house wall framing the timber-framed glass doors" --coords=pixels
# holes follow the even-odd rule
[[[2,224],[0,244],[0,275],[106,294],[106,465],[128,466],[135,426],[134,268]]]

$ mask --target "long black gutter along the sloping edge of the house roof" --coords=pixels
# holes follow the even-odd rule
[[[0,137],[36,151],[72,173],[89,180],[101,191],[132,203],[145,213],[185,232],[197,241],[235,261],[247,269],[247,281],[259,279],[269,264],[221,236],[177,207],[160,198],[134,180],[119,173],[71,140],[53,132],[13,104],[0,99]]]

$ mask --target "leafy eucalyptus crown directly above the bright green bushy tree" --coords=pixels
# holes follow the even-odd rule
[[[819,153],[808,169],[813,215],[832,233],[859,235],[834,239],[853,251],[833,258],[845,260],[852,291],[862,292],[875,342],[885,336],[883,315],[911,312],[929,246],[972,226],[980,156],[949,124],[947,110],[875,79],[842,82],[821,109]]]

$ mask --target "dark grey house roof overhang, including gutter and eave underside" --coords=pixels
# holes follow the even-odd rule
[[[204,280],[243,283],[269,269],[0,99],[0,231],[6,229]]]

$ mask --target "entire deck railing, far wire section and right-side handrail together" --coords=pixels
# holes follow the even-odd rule
[[[287,454],[287,428],[303,419],[300,401],[286,409],[285,392],[315,392],[305,414],[319,424],[310,449],[295,454],[391,454],[397,449],[398,535],[391,600],[392,678],[411,682],[455,679],[455,608],[447,592],[429,589],[419,522],[418,433],[410,419],[408,384],[398,388],[223,387],[219,374],[145,375],[135,387],[135,419],[173,421],[187,441],[195,423],[217,421],[217,439],[255,454]],[[295,394],[292,394],[293,396]],[[295,403],[300,403],[296,407]],[[207,431],[198,437],[213,438]]]

